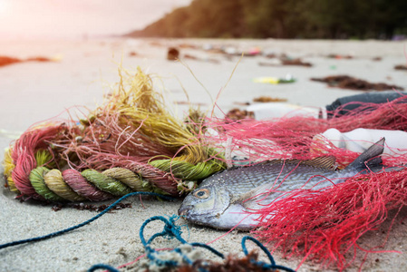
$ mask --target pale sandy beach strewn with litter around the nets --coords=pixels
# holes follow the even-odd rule
[[[264,55],[252,57],[211,53],[208,46],[228,46],[237,51],[257,47],[263,53],[286,53],[312,63],[304,66],[260,66],[270,62]],[[170,46],[180,50],[180,62],[168,61]],[[18,135],[38,121],[55,116],[66,117],[66,109],[83,106],[94,109],[103,95],[119,80],[118,67],[153,75],[155,88],[161,90],[174,115],[182,117],[188,111],[189,101],[201,110],[211,111],[217,95],[215,114],[222,116],[233,108],[245,109],[244,103],[254,98],[270,96],[309,107],[324,107],[335,99],[361,91],[329,88],[325,83],[312,82],[312,77],[347,74],[372,83],[388,83],[407,89],[407,72],[394,70],[397,64],[407,62],[404,56],[406,42],[380,41],[285,41],[285,40],[163,40],[163,39],[94,39],[86,41],[0,41],[0,55],[18,58],[44,56],[53,62],[15,63],[0,67],[0,160],[3,151]],[[185,57],[192,55],[197,59]],[[352,59],[328,58],[328,54],[351,55]],[[374,61],[373,58],[381,57]],[[236,67],[235,72],[233,73]],[[232,74],[233,73],[233,74]],[[291,74],[296,83],[254,83],[257,77],[285,78]],[[231,77],[231,78],[230,78]],[[230,80],[229,80],[230,78]],[[226,87],[225,87],[226,86]],[[184,90],[185,92],[184,92]],[[77,111],[77,110],[73,110]],[[0,169],[3,172],[3,167]],[[4,177],[0,183],[3,185]],[[109,204],[107,201],[99,204]],[[86,271],[92,265],[103,263],[119,267],[143,255],[139,230],[141,224],[152,216],[171,216],[177,213],[180,201],[161,202],[155,199],[133,197],[126,199],[131,209],[115,210],[90,225],[44,241],[0,250],[0,271]],[[52,205],[38,202],[20,202],[15,194],[2,186],[0,196],[0,244],[43,236],[91,219],[96,212],[78,209],[53,211]],[[407,267],[407,228],[403,209],[392,225],[387,237],[388,220],[382,228],[364,235],[361,245],[376,250],[389,251],[370,254],[363,271],[402,271]],[[404,220],[403,220],[404,219]],[[209,243],[223,253],[242,256],[240,240],[246,232],[225,231],[185,225],[183,237],[189,242]],[[162,224],[153,223],[146,235],[162,230]],[[160,239],[156,248],[171,248],[178,244]],[[248,247],[255,248],[252,244]],[[390,251],[400,252],[390,252]],[[208,255],[211,257],[211,255]],[[285,259],[278,250],[273,253],[276,263],[296,269],[301,258]],[[265,259],[263,257],[263,259]],[[363,263],[363,253],[357,255],[347,271],[357,271]],[[140,270],[136,262],[122,271]],[[335,267],[331,267],[336,271]],[[321,267],[305,262],[298,271],[320,271]],[[329,271],[329,270],[327,270]]]

